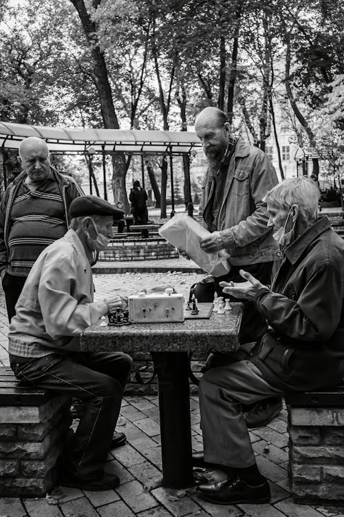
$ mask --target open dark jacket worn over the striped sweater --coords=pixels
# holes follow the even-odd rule
[[[52,176],[54,181],[58,184],[58,187],[61,190],[61,196],[63,199],[63,206],[65,210],[65,223],[68,228],[69,216],[68,216],[68,208],[70,203],[72,203],[73,199],[78,196],[83,196],[83,190],[78,186],[78,183],[71,177],[67,176],[67,174],[61,174],[53,167],[50,168],[52,171]],[[25,181],[28,175],[26,172],[21,172],[17,176],[17,178],[8,185],[3,197],[1,199],[0,204],[0,271],[6,267],[6,271],[9,271],[8,264],[8,256],[9,256],[9,247],[8,247],[8,236],[10,234],[10,222],[11,222],[11,211],[14,200],[17,197],[18,189]]]

